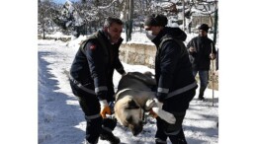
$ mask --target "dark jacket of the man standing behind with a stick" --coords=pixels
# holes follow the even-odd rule
[[[212,45],[213,53],[216,54],[213,40],[208,36],[196,36],[189,41],[187,44],[188,50],[190,46],[196,48],[195,52],[189,52],[193,70],[210,70]]]

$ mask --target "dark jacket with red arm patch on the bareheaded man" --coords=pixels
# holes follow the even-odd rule
[[[119,47],[123,39],[111,44],[103,31],[84,40],[78,49],[70,69],[70,75],[84,87],[95,91],[99,100],[106,100],[108,89],[114,89],[113,74],[116,69],[124,74],[119,59]],[[113,90],[109,90],[113,91]]]

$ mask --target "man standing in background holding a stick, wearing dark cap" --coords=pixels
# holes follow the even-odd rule
[[[202,24],[199,27],[199,36],[192,38],[187,45],[192,62],[193,75],[196,77],[197,73],[199,73],[199,100],[201,101],[206,101],[204,93],[208,87],[210,63],[216,54],[213,40],[208,37],[208,31],[209,26]]]

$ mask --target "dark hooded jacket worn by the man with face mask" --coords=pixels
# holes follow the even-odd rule
[[[173,39],[162,43],[167,37]],[[187,35],[179,28],[165,27],[152,40],[157,48],[155,78],[158,87],[157,97],[161,102],[168,98],[169,93],[195,83],[189,54],[183,43],[186,37]]]

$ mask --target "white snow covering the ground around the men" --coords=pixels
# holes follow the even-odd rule
[[[142,34],[141,34],[142,35]],[[147,43],[144,36],[134,34],[133,39]],[[39,143],[40,144],[81,144],[84,142],[86,121],[79,107],[77,98],[72,94],[67,73],[78,48],[78,43],[85,38],[80,36],[68,42],[60,40],[38,40],[39,61]],[[129,71],[151,71],[143,65],[129,65],[123,63]],[[117,87],[121,75],[114,73],[114,85]],[[197,92],[198,93],[198,92]],[[189,144],[217,144],[218,143],[218,92],[206,91],[208,102],[195,99],[191,102],[184,120],[184,130]],[[213,105],[213,107],[212,107]],[[123,143],[153,144],[156,130],[155,119],[147,118],[143,131],[136,137],[132,136],[128,128],[118,126],[114,134]],[[99,141],[108,144],[107,141]],[[168,144],[171,142],[168,140]]]

